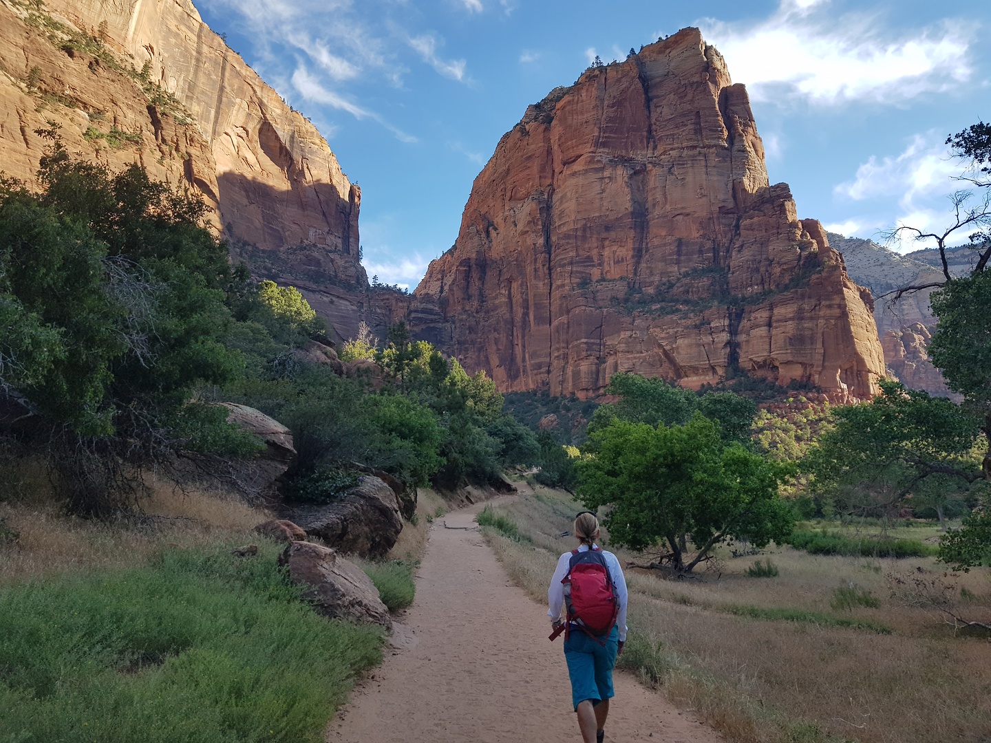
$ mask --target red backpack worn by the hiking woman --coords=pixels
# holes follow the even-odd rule
[[[564,604],[567,621],[558,627],[550,639],[561,631],[568,637],[568,627],[574,623],[594,639],[607,635],[619,614],[619,597],[609,577],[606,556],[594,547],[585,552],[573,550],[564,584]]]

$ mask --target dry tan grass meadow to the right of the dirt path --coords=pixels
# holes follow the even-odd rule
[[[580,508],[538,488],[480,519],[509,576],[536,600],[546,600],[558,556],[574,547],[557,535]],[[826,528],[854,542],[883,530]],[[887,530],[923,545],[938,534],[928,524]],[[615,552],[623,565],[649,563]],[[909,605],[911,596],[892,595],[893,576],[949,581],[955,600],[987,621],[987,569],[943,578],[932,557],[812,555],[773,544],[752,552],[724,546],[693,580],[627,568],[630,634],[620,664],[730,741],[991,740],[989,633],[955,629],[940,612]]]

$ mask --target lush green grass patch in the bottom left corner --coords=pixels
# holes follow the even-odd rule
[[[261,547],[0,588],[0,740],[322,740],[382,633],[318,616]]]

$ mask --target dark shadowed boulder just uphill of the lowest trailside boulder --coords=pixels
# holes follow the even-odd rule
[[[311,537],[320,537],[340,552],[382,557],[402,531],[399,502],[392,488],[372,475],[326,505],[291,505],[281,515]]]

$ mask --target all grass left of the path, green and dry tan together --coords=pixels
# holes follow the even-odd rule
[[[263,509],[160,483],[143,515],[101,522],[65,515],[42,468],[8,475],[0,741],[319,741],[382,659],[381,629],[300,600],[282,545],[251,531]],[[392,610],[442,503],[425,493],[386,559],[358,561]]]

